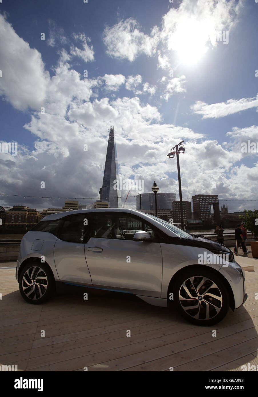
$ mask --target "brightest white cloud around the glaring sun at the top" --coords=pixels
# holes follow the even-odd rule
[[[198,61],[216,46],[216,35],[229,31],[237,21],[242,1],[183,0],[162,18],[160,37],[168,50],[177,52],[181,62]]]

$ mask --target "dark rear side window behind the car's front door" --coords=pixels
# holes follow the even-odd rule
[[[89,237],[89,216],[78,214],[64,218],[59,238],[70,243],[84,243]]]

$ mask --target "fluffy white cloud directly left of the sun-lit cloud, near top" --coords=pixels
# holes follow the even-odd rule
[[[128,59],[131,62],[142,53],[152,56],[159,41],[158,28],[154,26],[150,36],[140,29],[141,26],[133,18],[120,21],[113,27],[106,27],[103,32],[106,53],[113,58]]]

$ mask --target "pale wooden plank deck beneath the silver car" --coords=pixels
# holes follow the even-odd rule
[[[0,365],[19,371],[241,371],[248,362],[258,365],[258,265],[255,270],[246,272],[245,305],[229,309],[216,326],[199,327],[127,294],[88,289],[84,300],[86,290],[70,286],[34,306],[21,298],[15,269],[0,268]]]

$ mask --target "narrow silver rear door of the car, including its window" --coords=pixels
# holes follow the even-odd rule
[[[56,270],[61,281],[92,285],[84,249],[87,214],[67,216],[54,247]]]

